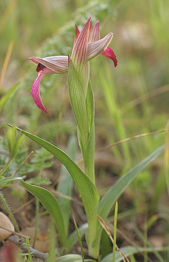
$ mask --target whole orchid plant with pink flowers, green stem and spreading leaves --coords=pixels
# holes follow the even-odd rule
[[[99,20],[92,29],[91,18],[89,18],[81,32],[76,26],[71,57],[68,55],[68,57],[56,56],[44,59],[34,57],[30,58],[30,60],[37,65],[38,72],[38,77],[33,82],[31,88],[31,94],[37,106],[45,112],[46,109],[42,104],[39,94],[39,85],[42,77],[46,74],[68,73],[70,104],[77,123],[78,141],[84,157],[85,173],[67,154],[56,146],[22,129],[16,128],[19,132],[23,133],[56,156],[69,171],[84,204],[87,224],[85,224],[85,226],[83,225],[84,227],[83,229],[81,228],[81,230],[86,230],[88,226],[88,230],[85,233],[85,239],[88,247],[88,255],[93,258],[99,258],[99,247],[102,234],[102,227],[99,224],[98,215],[105,220],[110,214],[113,204],[124,192],[127,185],[129,185],[137,174],[164,150],[164,146],[161,146],[155,150],[155,152],[143,159],[133,169],[129,170],[124,176],[122,176],[113,186],[111,186],[100,200],[99,192],[95,186],[94,97],[91,83],[89,81],[89,61],[100,54],[103,54],[113,60],[114,66],[117,65],[117,60],[113,51],[107,47],[110,44],[112,37],[113,33],[109,33],[103,39],[99,40]],[[30,193],[41,201],[42,205],[56,224],[56,229],[59,233],[60,246],[66,247],[68,252],[70,252],[73,247],[72,242],[75,243],[74,240],[72,241],[74,235],[70,234],[68,237],[67,225],[65,224],[66,220],[63,218],[64,212],[63,209],[61,209],[58,200],[52,195],[52,193],[40,186],[30,185],[25,181],[22,181],[22,185],[24,185]]]

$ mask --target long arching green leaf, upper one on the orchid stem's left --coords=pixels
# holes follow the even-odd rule
[[[99,193],[93,182],[84,174],[84,172],[74,163],[70,157],[65,154],[62,150],[56,146],[50,144],[49,142],[40,139],[20,128],[16,128],[19,132],[26,135],[28,138],[32,139],[43,148],[48,150],[51,154],[57,157],[62,164],[67,168],[71,177],[76,184],[79,194],[82,197],[84,204],[84,210],[87,216],[88,222],[88,243],[92,243],[96,238],[97,228],[96,224],[98,222],[98,203],[99,203]]]

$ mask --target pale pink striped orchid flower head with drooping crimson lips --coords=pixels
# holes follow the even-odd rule
[[[113,50],[107,48],[112,41],[113,33],[111,32],[104,38],[100,39],[99,19],[93,29],[91,17],[88,19],[81,32],[76,24],[75,27],[75,39],[71,60],[79,76],[81,75],[81,78],[84,79],[84,82],[87,82],[89,77],[88,61],[101,54],[112,59],[114,66],[117,66],[117,59]],[[67,74],[68,56],[51,56],[45,58],[30,57],[29,60],[37,65],[36,71],[38,72],[38,77],[35,79],[31,87],[31,95],[37,107],[47,113],[46,108],[42,104],[39,92],[41,79],[43,76],[49,74]]]

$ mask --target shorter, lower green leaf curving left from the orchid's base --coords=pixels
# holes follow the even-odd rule
[[[59,239],[62,247],[67,247],[67,236],[65,233],[65,226],[63,222],[62,212],[59,206],[58,201],[52,195],[51,192],[37,185],[30,185],[25,181],[21,181],[22,185],[32,194],[34,195],[44,206],[44,208],[48,211],[49,215],[52,216],[57,231],[59,233]]]

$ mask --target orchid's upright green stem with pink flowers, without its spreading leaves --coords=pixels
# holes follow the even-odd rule
[[[86,242],[88,246],[88,254],[94,258],[98,258],[99,243],[95,244],[95,242],[99,233],[99,222],[97,220],[99,193],[95,186],[95,108],[93,90],[89,81],[89,61],[102,54],[103,56],[107,56],[108,58],[112,59],[114,66],[117,66],[117,59],[113,50],[108,48],[112,41],[113,33],[111,32],[104,38],[100,39],[99,20],[93,28],[91,17],[84,25],[82,31],[79,31],[76,25],[75,27],[75,39],[71,57],[68,54],[68,56],[29,58],[31,62],[37,65],[38,72],[38,77],[35,79],[31,87],[31,95],[37,107],[42,111],[47,112],[46,108],[42,104],[39,92],[39,86],[42,77],[47,74],[68,73],[70,104],[77,123],[77,135],[80,149],[84,158],[85,175],[89,178],[90,181],[86,180],[87,178],[84,178],[85,175],[82,174],[84,181],[86,181],[84,182],[84,187],[84,185],[82,186],[79,183],[80,177],[76,179],[74,178],[75,173],[72,174],[70,172],[70,174],[79,189],[79,193],[82,196],[82,201],[84,203],[84,209],[87,216],[88,231],[86,232]],[[56,153],[53,154],[55,155]],[[81,171],[79,170],[78,172],[80,175]],[[24,186],[26,187],[26,185]],[[89,188],[87,188],[87,186]],[[83,189],[81,187],[83,187]],[[86,193],[86,190],[88,193]],[[89,191],[91,192],[89,193]],[[88,197],[86,197],[86,194]]]

